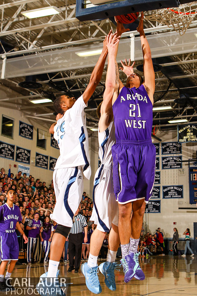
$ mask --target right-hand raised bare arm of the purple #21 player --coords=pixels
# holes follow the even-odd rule
[[[143,12],[141,13],[139,26],[137,31],[140,35],[143,59],[144,59],[144,86],[148,96],[153,104],[153,94],[155,92],[155,72],[152,65],[151,50],[143,30]]]

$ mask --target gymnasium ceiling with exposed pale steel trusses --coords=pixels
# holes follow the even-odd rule
[[[1,2],[2,3],[2,2]],[[59,15],[28,19],[21,15],[21,11],[32,10],[46,6],[56,6],[62,11]],[[146,12],[145,14],[149,14]],[[81,46],[100,46],[104,36],[110,29],[115,31],[113,19],[101,21],[78,21],[75,18],[75,1],[73,0],[4,0],[0,5],[0,54],[7,55],[7,60],[29,55],[41,56],[54,50],[78,49]],[[130,25],[134,36],[138,37],[136,28],[137,20]],[[197,27],[197,17],[192,22],[191,28]],[[144,21],[144,28],[148,36],[162,33],[171,34],[166,26],[161,24]],[[121,40],[130,40],[130,32],[124,34]],[[161,35],[162,36],[162,35]],[[179,34],[178,34],[179,37]],[[194,39],[197,36],[194,35]],[[120,41],[121,42],[121,41]],[[129,41],[130,42],[130,41]],[[194,45],[192,45],[194,46]],[[169,47],[169,45],[168,45]],[[196,46],[194,46],[196,47]],[[170,125],[168,120],[173,117],[187,118],[190,122],[197,122],[197,47],[190,50],[192,52],[173,54],[154,58],[153,62],[162,65],[161,71],[155,73],[155,107],[171,106],[171,111],[153,112],[153,126],[160,125],[161,129],[173,129],[176,125]],[[98,56],[96,56],[98,57]],[[129,56],[126,56],[129,58]],[[120,59],[124,59],[124,53]],[[2,59],[1,62],[2,63]],[[119,63],[120,64],[120,63]],[[143,64],[142,60],[137,60],[135,66]],[[2,64],[0,64],[2,68]],[[25,81],[26,75],[1,79],[0,83],[17,91],[20,95],[17,98],[0,98],[0,106],[6,105],[10,108],[18,108],[24,112],[24,116],[37,117],[46,126],[55,121],[53,103],[32,104],[30,98],[52,98],[63,93],[70,93],[78,98],[85,90],[93,67],[78,65],[78,67],[68,70],[55,70],[50,73],[42,73],[39,69],[36,74],[36,81],[41,84],[38,89],[25,89],[18,84]],[[87,126],[96,127],[95,108],[102,100],[104,92],[106,66],[101,83],[91,98],[87,114]],[[135,69],[136,70],[136,69]],[[136,70],[137,71],[137,70]],[[137,71],[139,74],[142,72]],[[35,73],[34,73],[35,74]],[[120,73],[120,79],[125,82],[124,73]],[[180,98],[181,100],[175,101]],[[185,99],[185,96],[187,97]],[[31,117],[29,117],[31,118]]]

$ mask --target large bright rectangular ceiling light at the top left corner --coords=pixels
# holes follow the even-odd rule
[[[48,6],[48,7],[42,7],[42,8],[37,8],[33,10],[22,11],[21,14],[24,15],[24,17],[35,18],[35,17],[46,17],[53,14],[59,14],[61,12],[62,12],[61,9],[57,8],[56,6]]]

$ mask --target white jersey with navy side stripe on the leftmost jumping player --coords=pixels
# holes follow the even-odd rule
[[[90,179],[90,157],[83,97],[77,99],[54,127],[54,138],[58,141],[59,158],[54,169],[82,166],[83,174]]]

